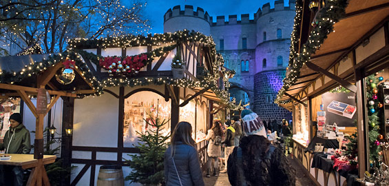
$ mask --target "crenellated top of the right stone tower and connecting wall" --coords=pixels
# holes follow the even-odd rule
[[[213,17],[210,17],[211,25],[234,25],[234,24],[245,24],[245,23],[255,23],[255,20],[262,17],[264,14],[269,14],[270,12],[283,11],[283,10],[295,10],[295,0],[289,0],[289,6],[284,6],[284,0],[278,0],[274,2],[274,8],[270,8],[270,3],[266,3],[261,8],[258,8],[257,12],[254,14],[254,19],[249,19],[249,14],[241,14],[240,21],[238,21],[237,15],[229,15],[229,21],[225,21],[224,16],[216,17],[216,22],[213,23]]]

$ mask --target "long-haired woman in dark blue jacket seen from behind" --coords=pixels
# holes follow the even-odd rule
[[[167,186],[204,186],[196,143],[191,137],[191,124],[182,121],[171,135],[165,152],[165,183]]]

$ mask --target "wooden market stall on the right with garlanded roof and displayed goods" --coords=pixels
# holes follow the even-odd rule
[[[292,154],[319,185],[389,183],[388,16],[384,0],[296,1],[275,103],[293,112]]]

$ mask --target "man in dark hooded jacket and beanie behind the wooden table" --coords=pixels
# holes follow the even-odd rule
[[[21,114],[10,116],[10,130],[4,136],[0,149],[6,154],[29,154],[31,150],[30,132],[22,124]],[[23,169],[19,166],[0,165],[0,185],[23,185]]]

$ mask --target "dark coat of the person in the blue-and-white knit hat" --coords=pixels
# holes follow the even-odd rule
[[[264,136],[245,136],[228,161],[233,186],[295,185],[294,170],[282,150]]]

